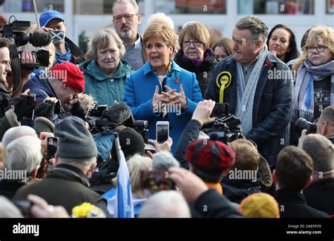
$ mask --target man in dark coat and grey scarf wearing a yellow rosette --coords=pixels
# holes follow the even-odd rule
[[[204,99],[230,104],[242,134],[256,142],[271,169],[289,145],[293,85],[289,68],[266,47],[268,27],[247,16],[233,30],[233,51],[214,68]]]

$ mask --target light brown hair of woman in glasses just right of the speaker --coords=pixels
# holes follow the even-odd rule
[[[210,45],[209,30],[202,23],[196,21],[190,21],[188,23],[185,23],[185,25],[183,25],[183,27],[180,30],[180,36],[178,37],[181,49],[183,49],[182,42],[183,39],[185,39],[185,35],[187,34],[190,37],[202,42],[204,50],[209,48]]]

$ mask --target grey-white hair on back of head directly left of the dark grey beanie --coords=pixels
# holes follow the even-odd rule
[[[6,148],[6,168],[27,171],[27,176],[42,161],[41,140],[36,136],[23,136],[13,140]]]

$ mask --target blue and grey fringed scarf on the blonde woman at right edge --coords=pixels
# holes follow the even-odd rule
[[[292,121],[302,117],[314,121],[314,81],[330,76],[330,105],[334,104],[334,60],[322,66],[312,66],[307,59],[299,67],[296,85]]]

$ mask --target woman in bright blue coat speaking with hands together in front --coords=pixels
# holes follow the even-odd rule
[[[156,121],[169,121],[175,152],[202,94],[196,75],[172,60],[176,39],[171,27],[149,25],[143,43],[148,61],[126,80],[124,102],[135,120],[149,122],[150,139],[156,139]]]

